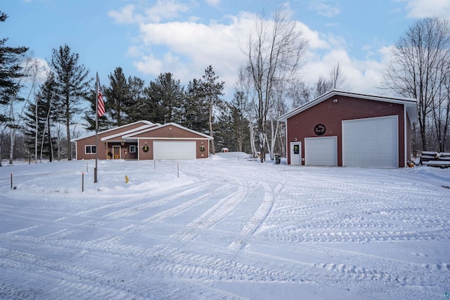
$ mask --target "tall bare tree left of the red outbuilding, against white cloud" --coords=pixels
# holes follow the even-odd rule
[[[299,68],[307,40],[303,38],[297,22],[289,19],[290,12],[281,7],[272,20],[264,14],[255,22],[255,34],[250,34],[247,51],[248,72],[257,93],[253,105],[257,115],[257,131],[261,146],[261,162],[265,160],[267,115],[276,103],[274,86],[287,81]]]

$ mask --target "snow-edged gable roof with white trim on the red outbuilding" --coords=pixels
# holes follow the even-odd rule
[[[304,110],[307,110],[310,107],[313,107],[314,105],[317,105],[321,103],[324,100],[327,100],[329,98],[332,98],[334,96],[347,96],[347,97],[353,97],[353,98],[361,98],[365,100],[375,100],[375,101],[383,101],[383,102],[390,102],[390,103],[397,103],[405,105],[406,112],[408,113],[409,120],[411,122],[417,122],[417,100],[414,98],[393,98],[393,97],[385,97],[385,96],[377,96],[377,95],[367,95],[362,93],[352,93],[348,91],[338,91],[333,90],[329,91],[328,93],[324,93],[322,96],[319,96],[319,98],[316,98],[312,100],[311,102],[305,103],[304,105],[295,108],[294,110],[291,110],[288,113],[285,113],[284,115],[281,115],[278,117],[278,120],[281,122],[286,122],[287,119],[290,117],[293,117],[294,115],[297,115],[300,112],[303,112]]]

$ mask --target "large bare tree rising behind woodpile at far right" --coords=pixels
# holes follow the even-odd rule
[[[384,89],[418,100],[422,150],[430,147],[428,116],[441,117],[435,110],[445,107],[445,99],[448,99],[448,92],[442,87],[449,76],[449,60],[449,23],[438,18],[425,18],[413,24],[395,43],[392,61],[383,74]],[[439,125],[436,130],[444,128]],[[439,135],[442,136],[442,132]]]

